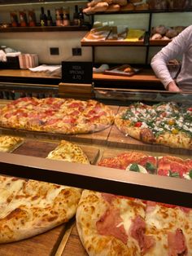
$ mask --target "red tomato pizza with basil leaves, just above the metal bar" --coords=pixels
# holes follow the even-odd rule
[[[98,166],[132,170],[143,174],[158,174],[174,178],[192,179],[192,159],[164,156],[154,157],[143,152],[122,152],[116,157],[103,158]]]

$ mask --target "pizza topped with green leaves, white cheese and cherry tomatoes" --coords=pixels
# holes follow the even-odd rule
[[[175,103],[129,105],[115,117],[125,135],[145,143],[192,149],[192,108]]]

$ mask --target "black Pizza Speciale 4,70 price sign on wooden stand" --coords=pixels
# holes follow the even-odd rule
[[[92,62],[62,62],[62,82],[92,84],[93,63]]]

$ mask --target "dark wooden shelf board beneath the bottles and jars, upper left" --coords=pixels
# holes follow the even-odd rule
[[[89,31],[89,25],[83,26],[47,26],[47,27],[7,27],[0,28],[0,33],[12,32],[55,32],[55,31]]]

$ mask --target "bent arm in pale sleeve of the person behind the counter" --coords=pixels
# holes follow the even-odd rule
[[[151,67],[155,75],[159,77],[166,90],[180,91],[168,71],[168,61],[177,58],[188,50],[190,38],[192,35],[192,26],[183,30],[176,38],[162,48],[151,60]]]

